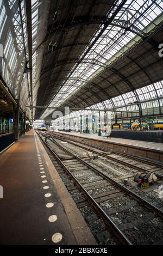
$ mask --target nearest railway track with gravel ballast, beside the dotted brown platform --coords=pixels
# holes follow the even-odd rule
[[[153,244],[162,239],[163,212],[159,208],[138,196],[134,189],[121,185],[92,167],[54,138],[39,135],[55,162],[71,176],[118,241],[132,245],[142,244],[142,241]],[[102,191],[103,188],[105,191]],[[81,204],[85,204],[84,199]]]

